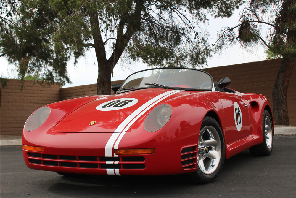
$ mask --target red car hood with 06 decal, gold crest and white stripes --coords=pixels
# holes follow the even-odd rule
[[[189,93],[147,88],[102,97],[74,110],[54,126],[52,132],[126,132],[153,107]]]

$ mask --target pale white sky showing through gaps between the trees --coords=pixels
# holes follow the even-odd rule
[[[237,25],[239,17],[239,10],[234,12],[230,18],[216,18],[209,17],[208,25],[205,29],[209,32],[209,42],[215,43],[217,40],[217,31],[221,30],[223,27],[235,26]],[[254,61],[262,61],[267,57],[264,53],[263,47],[258,47],[257,51],[253,53],[244,52],[240,49],[240,45],[235,45],[232,48],[225,49],[223,54],[220,56],[218,54],[212,54],[212,58],[208,59],[208,67],[226,66],[232,64],[241,64]],[[16,78],[17,73],[15,72],[15,66],[9,65],[4,57],[0,58],[0,72],[1,77],[5,78]],[[120,64],[115,65],[113,77],[111,81],[126,79],[133,72],[137,72],[143,69],[149,69],[147,64],[142,62],[136,62],[133,65],[128,65],[127,67],[121,68]],[[94,50],[90,50],[86,53],[86,57],[80,58],[78,64],[74,66],[73,63],[69,62],[67,66],[67,71],[70,76],[72,84],[66,84],[63,88],[95,84],[98,77],[98,64],[96,60],[96,55]]]

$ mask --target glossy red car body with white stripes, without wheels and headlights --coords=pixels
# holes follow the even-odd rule
[[[25,164],[38,170],[99,175],[194,172],[205,116],[216,119],[221,127],[226,159],[263,142],[264,109],[272,117],[265,96],[233,90],[194,91],[185,85],[181,89],[147,87],[46,105],[51,110],[47,120],[33,131],[24,127],[22,144],[44,149],[23,149]],[[146,131],[145,119],[163,104],[171,107],[170,119],[161,129]],[[241,126],[237,126],[239,121]],[[154,148],[155,153],[114,153],[115,149],[146,148]],[[184,158],[188,153],[191,157]]]

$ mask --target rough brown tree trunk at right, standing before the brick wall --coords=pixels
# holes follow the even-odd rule
[[[287,91],[295,64],[296,57],[289,58],[284,56],[281,61],[281,66],[279,67],[272,91],[274,125],[289,125]]]

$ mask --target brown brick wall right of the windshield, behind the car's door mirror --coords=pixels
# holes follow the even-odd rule
[[[266,96],[272,109],[272,90],[282,58],[203,69],[214,81],[227,76],[231,80],[228,88],[242,93]],[[287,91],[290,125],[296,125],[296,68],[294,67]]]

